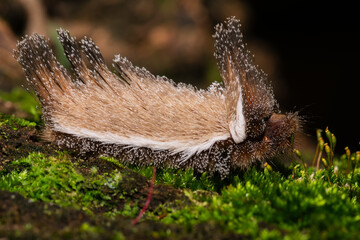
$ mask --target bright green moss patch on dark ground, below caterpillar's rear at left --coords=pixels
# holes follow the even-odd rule
[[[91,210],[110,205],[105,189],[115,188],[121,176],[115,170],[102,176],[96,172],[84,176],[75,170],[66,154],[46,157],[32,153],[12,162],[20,171],[0,171],[0,189],[18,192],[27,198]]]

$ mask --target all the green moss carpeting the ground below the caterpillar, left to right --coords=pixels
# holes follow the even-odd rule
[[[158,169],[158,189],[162,189],[160,185],[182,189],[187,202],[181,199],[157,205],[146,212],[142,221],[181,226],[188,233],[216,229],[254,239],[357,238],[360,152],[347,148],[345,154],[337,156],[333,134],[328,130],[324,133],[326,138],[321,133],[318,136],[314,157],[315,166],[318,159],[323,162],[318,170],[309,166],[299,151],[295,153],[300,161],[293,161],[288,167],[289,174],[271,167],[254,167],[220,181],[206,174],[197,176],[191,170]],[[327,150],[321,147],[326,143]],[[133,171],[150,179],[152,167],[130,166],[132,170],[129,170],[118,160],[107,157],[91,160],[91,164],[89,161],[71,161],[63,152],[55,156],[32,153],[0,171],[0,189],[37,201],[75,207],[92,215],[101,214],[108,219],[120,215],[134,218],[143,206],[147,184],[142,180],[144,177],[139,178]],[[140,185],[134,184],[138,181],[142,181]],[[159,201],[156,194],[152,201]],[[105,210],[99,213],[99,209]],[[104,234],[104,228],[87,222],[77,231],[98,237]],[[176,233],[162,229],[153,234],[169,237]],[[124,236],[119,233],[118,237]]]

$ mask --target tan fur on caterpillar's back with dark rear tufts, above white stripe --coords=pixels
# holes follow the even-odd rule
[[[94,60],[88,57],[94,68],[91,71],[74,39],[65,31],[59,34],[77,79],[72,79],[56,62],[46,41],[38,35],[20,42],[16,53],[20,63],[35,63],[27,76],[52,124],[193,144],[228,132],[224,97],[219,91],[176,85],[165,77],[133,67],[125,58],[115,63],[121,79],[108,70],[95,45],[83,40],[81,46],[87,54],[97,54]],[[44,53],[41,61],[46,66],[37,65],[37,58]],[[26,58],[31,56],[35,59]],[[33,79],[34,75],[37,78]]]

